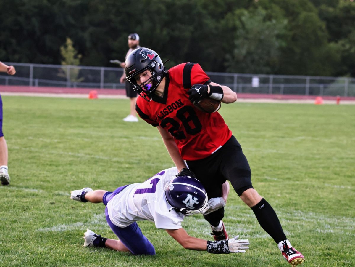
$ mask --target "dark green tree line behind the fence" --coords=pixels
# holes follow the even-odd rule
[[[70,38],[81,65],[112,66],[136,32],[167,68],[355,77],[354,0],[13,0],[0,10],[5,62],[60,64]]]

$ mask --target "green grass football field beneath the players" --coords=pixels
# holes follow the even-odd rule
[[[224,222],[250,240],[242,254],[184,250],[140,222],[156,256],[83,247],[87,228],[115,238],[104,205],[72,201],[89,186],[113,191],[173,166],[158,131],[124,123],[128,100],[3,96],[10,186],[0,186],[0,266],[289,266],[231,190]],[[301,266],[355,265],[355,105],[235,103],[220,113],[239,140],[253,186],[305,255]],[[211,240],[202,215],[183,227]]]

